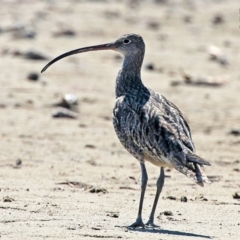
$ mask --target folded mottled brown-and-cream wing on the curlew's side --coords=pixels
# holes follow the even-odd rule
[[[136,115],[132,121],[136,122],[136,129],[132,130],[135,132],[132,138],[139,147],[152,156],[162,156],[184,166],[188,162],[209,165],[194,154],[195,147],[187,121],[180,110],[164,96],[150,90],[148,101],[133,111]]]

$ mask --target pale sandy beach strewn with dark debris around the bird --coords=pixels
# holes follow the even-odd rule
[[[238,1],[0,4],[1,240],[240,239]],[[112,125],[120,55],[74,55],[40,74],[64,52],[130,32],[145,41],[144,84],[178,106],[197,154],[212,164],[204,188],[166,169],[157,229],[126,228],[137,217],[141,170]],[[66,94],[78,112],[56,117]],[[146,167],[144,222],[159,174]]]

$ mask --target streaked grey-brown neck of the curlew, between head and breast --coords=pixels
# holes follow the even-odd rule
[[[125,56],[116,81],[116,97],[137,94],[146,88],[141,80],[143,56]]]

